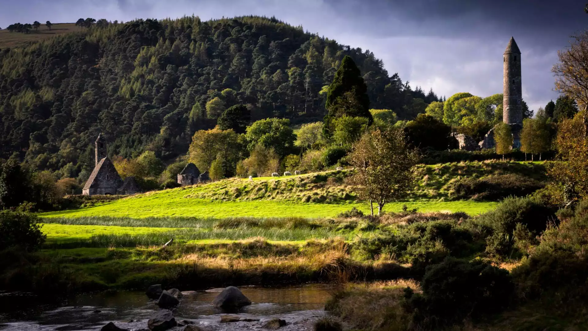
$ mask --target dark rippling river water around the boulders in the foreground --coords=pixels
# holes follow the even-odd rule
[[[240,287],[252,304],[236,314],[259,322],[219,323],[224,315],[211,306],[219,290],[182,296],[173,309],[176,321],[189,319],[212,330],[259,329],[264,320],[279,317],[288,326],[280,330],[310,330],[321,316],[332,287],[310,284],[292,287]],[[182,289],[181,289],[182,290]],[[159,307],[144,292],[101,292],[67,299],[49,299],[30,293],[0,292],[0,330],[99,330],[108,322],[129,322],[132,330],[146,328],[146,320]],[[181,328],[175,328],[181,330]]]

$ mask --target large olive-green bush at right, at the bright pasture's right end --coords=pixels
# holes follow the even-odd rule
[[[531,198],[508,197],[494,210],[482,214],[475,223],[487,236],[486,252],[505,258],[523,253],[516,249],[517,241],[542,233],[550,219],[554,219],[554,213],[549,207]],[[525,235],[521,236],[522,233]]]

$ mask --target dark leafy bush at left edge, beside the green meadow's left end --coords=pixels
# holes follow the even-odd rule
[[[25,250],[38,249],[45,242],[39,218],[22,211],[0,212],[0,250],[19,246]]]

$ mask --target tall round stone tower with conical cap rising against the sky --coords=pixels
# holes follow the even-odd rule
[[[523,92],[520,72],[520,50],[515,38],[510,37],[509,45],[503,55],[503,112],[502,121],[513,125],[513,134],[516,127],[523,125]]]

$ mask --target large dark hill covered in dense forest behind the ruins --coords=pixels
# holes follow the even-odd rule
[[[437,99],[390,76],[369,51],[258,16],[139,19],[2,49],[0,158],[74,177],[93,167],[99,132],[109,155],[152,150],[169,160],[231,105],[247,104],[252,120],[313,121],[345,55],[362,71],[370,108],[412,118]]]

